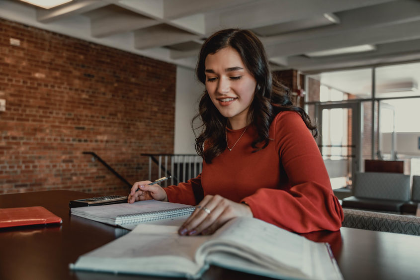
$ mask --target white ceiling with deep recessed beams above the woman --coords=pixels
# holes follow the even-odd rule
[[[228,27],[257,33],[277,70],[420,60],[420,0],[74,0],[49,10],[0,0],[0,17],[188,68],[203,39]],[[305,55],[363,44],[375,49]]]

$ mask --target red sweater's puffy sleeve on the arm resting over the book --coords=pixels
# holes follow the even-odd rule
[[[255,218],[289,231],[338,230],[343,211],[311,132],[296,112],[280,112],[273,122],[276,151],[289,186],[260,188],[241,202],[251,207]]]

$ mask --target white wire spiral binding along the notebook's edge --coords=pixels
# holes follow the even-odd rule
[[[173,217],[179,217],[191,214],[195,210],[194,206],[182,207],[177,209],[153,211],[138,214],[127,214],[116,217],[115,223],[118,225],[132,224],[132,223],[143,223],[162,219],[168,219]]]

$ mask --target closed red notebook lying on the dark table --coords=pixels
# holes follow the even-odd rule
[[[49,223],[61,223],[62,219],[42,206],[0,208],[0,228]]]

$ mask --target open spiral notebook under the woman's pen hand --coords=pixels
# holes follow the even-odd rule
[[[186,219],[194,206],[157,200],[137,201],[134,203],[120,203],[95,207],[71,208],[72,215],[102,222],[110,225],[123,226],[131,229],[140,223]],[[165,223],[164,223],[165,224]]]

